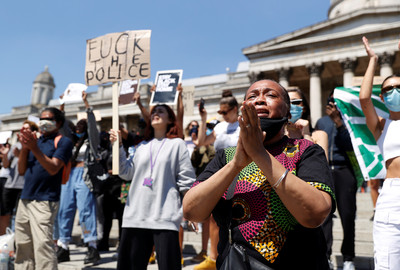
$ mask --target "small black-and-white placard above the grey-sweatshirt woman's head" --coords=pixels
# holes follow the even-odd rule
[[[151,95],[150,105],[174,105],[178,100],[176,88],[181,83],[183,70],[158,71],[156,75],[156,89]]]

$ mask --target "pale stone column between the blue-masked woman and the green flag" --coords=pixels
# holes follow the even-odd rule
[[[311,112],[311,123],[315,126],[315,123],[322,116],[322,104],[321,104],[321,71],[322,64],[312,64],[307,66],[308,72],[310,73],[310,112]]]

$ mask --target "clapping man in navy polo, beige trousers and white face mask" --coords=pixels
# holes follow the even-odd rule
[[[58,211],[63,166],[72,155],[72,142],[58,130],[65,121],[53,107],[40,114],[42,136],[21,129],[18,172],[25,175],[21,200],[15,218],[15,269],[57,269],[53,248],[53,223]]]

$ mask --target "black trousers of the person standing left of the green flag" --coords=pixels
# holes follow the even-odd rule
[[[357,211],[357,180],[352,168],[347,166],[335,166],[332,170],[332,176],[335,184],[337,210],[343,228],[343,242],[340,251],[343,255],[343,261],[352,261],[355,256],[354,239]],[[322,225],[327,242],[328,258],[330,258],[332,254],[332,225],[332,215],[330,215]]]

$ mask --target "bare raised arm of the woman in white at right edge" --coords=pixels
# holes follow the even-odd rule
[[[369,57],[369,63],[361,84],[359,98],[360,98],[361,109],[365,115],[368,129],[374,135],[375,140],[378,140],[382,131],[380,127],[381,119],[376,113],[374,104],[372,103],[371,99],[375,69],[378,65],[378,56],[369,46],[368,39],[366,37],[363,37],[363,43],[365,51],[367,52]]]

